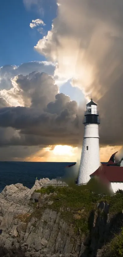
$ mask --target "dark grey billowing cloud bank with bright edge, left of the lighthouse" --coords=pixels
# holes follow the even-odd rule
[[[0,91],[1,146],[77,146],[77,103],[58,93],[52,76],[43,72],[17,75],[12,85],[11,89]]]

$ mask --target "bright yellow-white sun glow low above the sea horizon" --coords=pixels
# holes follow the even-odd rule
[[[57,145],[55,146],[53,153],[55,155],[73,155],[73,150],[74,148],[72,146],[62,146],[62,145]]]

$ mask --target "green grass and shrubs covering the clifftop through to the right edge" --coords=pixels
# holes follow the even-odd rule
[[[78,187],[76,187],[77,189]],[[41,195],[54,193],[49,196],[49,201],[53,201],[52,205],[45,205],[42,208],[51,208],[52,210],[60,211],[63,220],[68,224],[73,224],[75,232],[81,230],[82,233],[89,232],[88,218],[92,210],[96,210],[96,203],[106,201],[110,204],[110,213],[116,214],[123,210],[123,194],[120,192],[113,196],[106,195],[100,198],[98,194],[92,193],[87,187],[79,187],[77,191],[71,187],[52,187],[41,188],[35,192]],[[35,217],[40,217],[43,209],[34,210]]]

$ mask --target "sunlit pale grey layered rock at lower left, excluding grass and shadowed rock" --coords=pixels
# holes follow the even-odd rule
[[[17,183],[0,193],[0,256],[81,256],[83,239],[61,219],[60,212],[46,208],[40,219],[22,221],[33,213],[29,203],[38,202],[41,195],[34,192],[35,188],[41,188],[47,181],[36,180],[31,189]],[[52,205],[48,197],[42,196],[39,208],[44,202]]]

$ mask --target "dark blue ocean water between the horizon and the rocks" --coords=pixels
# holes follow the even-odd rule
[[[0,162],[0,192],[6,185],[22,183],[31,188],[36,177],[39,179],[55,179],[65,173],[69,162]]]

